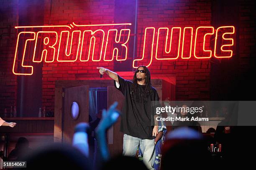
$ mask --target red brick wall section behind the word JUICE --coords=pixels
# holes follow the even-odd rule
[[[195,28],[210,26],[210,21],[210,0],[198,2],[194,0],[141,0],[138,4],[138,32],[145,27],[152,26],[156,29],[193,27],[195,35]],[[138,43],[140,43],[140,37]],[[208,100],[210,98],[208,60],[198,60],[194,57],[189,60],[178,59],[176,62],[155,60],[150,70],[153,74],[174,73],[176,75],[176,100]]]

